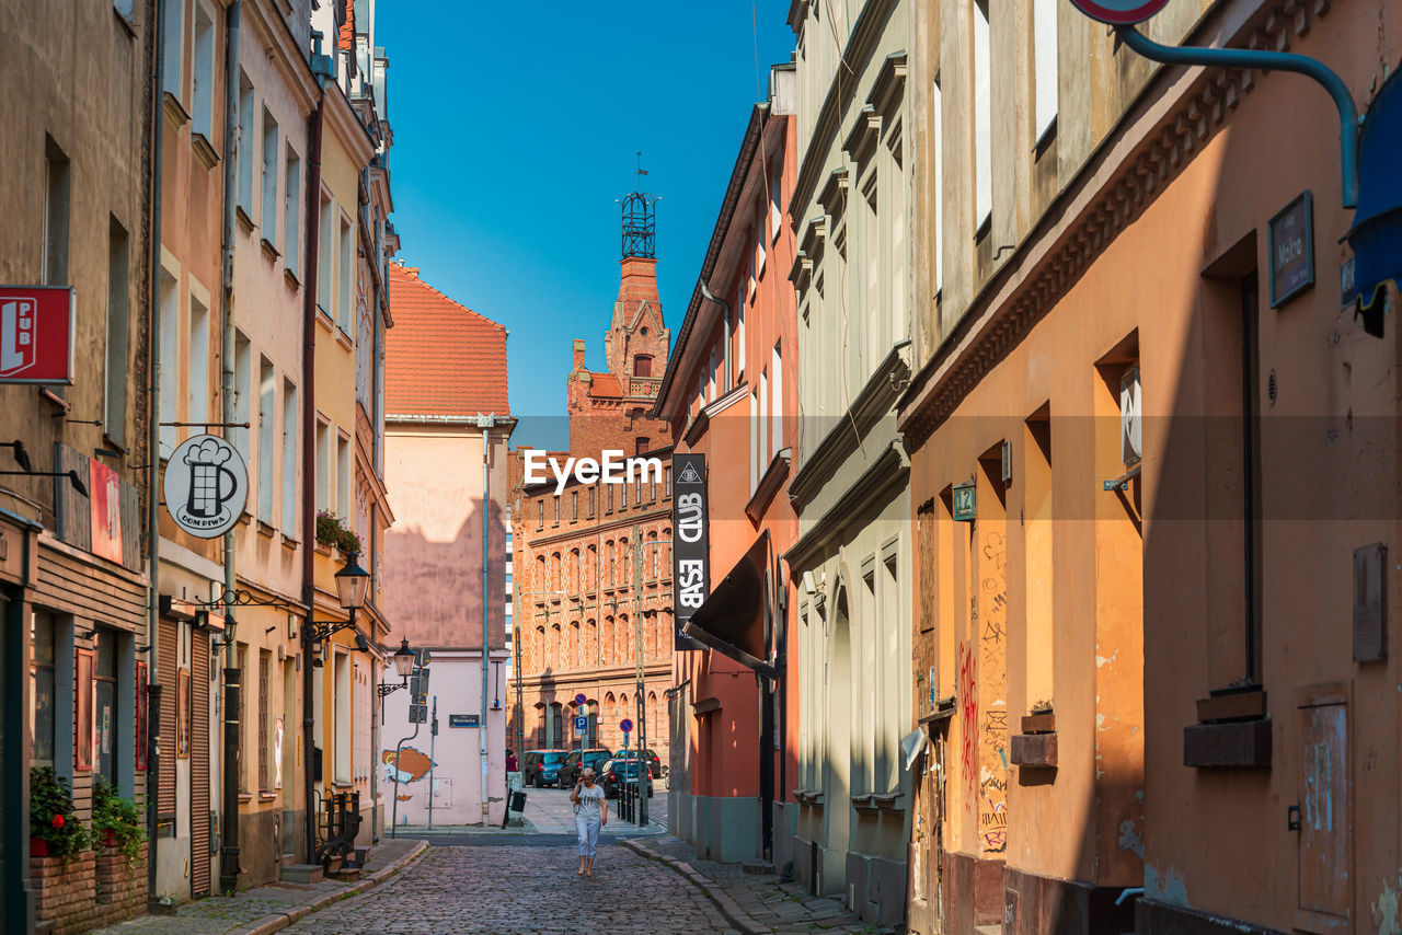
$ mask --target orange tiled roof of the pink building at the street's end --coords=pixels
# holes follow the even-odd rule
[[[506,328],[390,264],[384,409],[391,415],[510,415]]]

